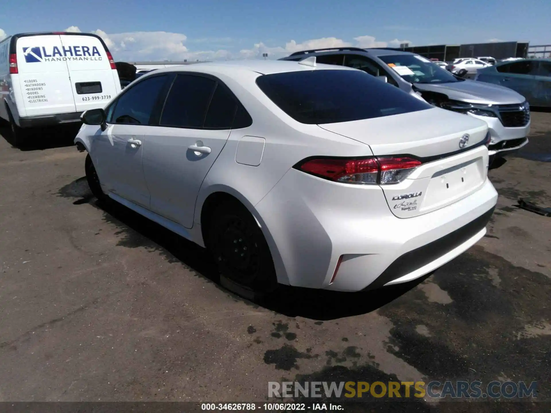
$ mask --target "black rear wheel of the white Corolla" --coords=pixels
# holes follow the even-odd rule
[[[231,284],[261,295],[276,290],[276,269],[268,243],[245,206],[225,202],[211,216],[207,247],[218,265],[220,280],[230,281],[225,286],[245,296],[243,289],[234,290]]]

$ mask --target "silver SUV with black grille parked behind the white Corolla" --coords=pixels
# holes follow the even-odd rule
[[[466,80],[441,70],[429,59],[410,52],[343,47],[295,52],[282,60],[316,57],[319,63],[364,70],[432,105],[464,113],[488,123],[490,161],[528,143],[530,107],[526,99],[503,86]],[[499,167],[495,162],[493,166]]]

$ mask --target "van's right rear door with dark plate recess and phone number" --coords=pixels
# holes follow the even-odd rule
[[[105,46],[91,35],[64,34],[60,39],[66,51],[76,110],[104,107],[121,90]]]

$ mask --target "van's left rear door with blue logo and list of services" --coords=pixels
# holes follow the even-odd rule
[[[74,112],[60,36],[21,36],[15,47],[25,116]]]

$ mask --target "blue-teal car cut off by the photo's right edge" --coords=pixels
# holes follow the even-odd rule
[[[501,62],[479,69],[475,80],[515,90],[532,106],[551,107],[551,59]]]

